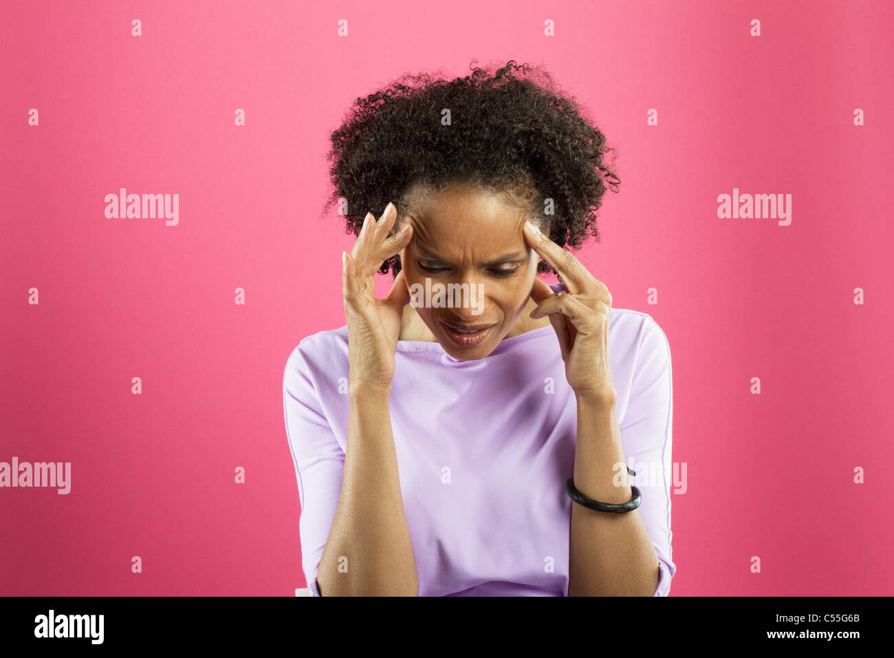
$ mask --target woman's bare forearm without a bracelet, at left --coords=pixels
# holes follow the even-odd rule
[[[342,493],[317,574],[324,596],[418,594],[390,394],[382,387],[350,387]]]

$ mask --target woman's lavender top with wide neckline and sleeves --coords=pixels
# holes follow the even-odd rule
[[[555,290],[560,284],[553,284]],[[652,316],[612,308],[611,376],[629,482],[671,589],[671,350]],[[398,341],[390,400],[420,596],[567,596],[577,400],[552,325],[458,361],[440,343]],[[348,328],[300,341],[283,408],[298,480],[304,575],[332,527],[347,445]],[[595,513],[595,512],[594,512]],[[629,512],[634,514],[635,512]]]

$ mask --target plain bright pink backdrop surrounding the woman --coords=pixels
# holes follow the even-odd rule
[[[72,462],[68,495],[0,489],[0,594],[306,586],[282,379],[344,324],[328,133],[473,59],[544,64],[618,149],[578,257],[670,340],[671,595],[894,594],[891,3],[0,7],[0,461]],[[179,193],[179,225],[105,218],[122,187]],[[733,188],[790,193],[791,225],[718,218]]]

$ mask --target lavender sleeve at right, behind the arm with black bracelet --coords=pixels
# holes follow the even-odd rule
[[[630,483],[642,494],[638,509],[658,555],[654,596],[667,596],[677,573],[671,552],[672,425],[671,346],[655,320],[644,315],[630,397],[619,429],[624,457],[637,473]]]

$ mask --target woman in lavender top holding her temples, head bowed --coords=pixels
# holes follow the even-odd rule
[[[529,73],[404,76],[333,132],[347,325],[283,378],[313,595],[670,590],[670,349],[563,248],[620,181]]]

